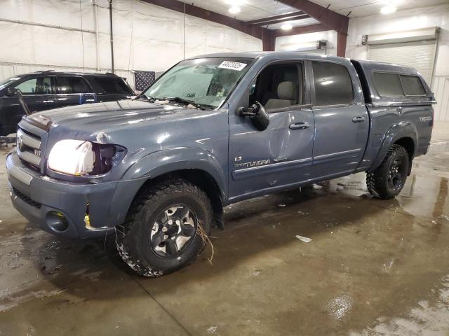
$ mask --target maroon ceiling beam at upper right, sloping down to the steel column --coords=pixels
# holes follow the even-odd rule
[[[334,12],[328,8],[324,8],[309,0],[278,0],[279,2],[301,10],[318,20],[323,25],[326,25],[329,29],[335,30],[342,34],[347,34],[349,18]]]

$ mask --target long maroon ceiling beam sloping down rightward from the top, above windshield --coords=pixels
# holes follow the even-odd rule
[[[192,15],[196,18],[219,23],[220,25],[231,27],[255,38],[262,39],[265,34],[265,31],[268,30],[263,27],[249,25],[247,22],[231,18],[227,15],[222,15],[220,13],[215,13],[201,7],[196,7],[188,3],[184,3],[183,1],[177,0],[142,0],[142,1],[146,3],[151,3],[152,5],[155,6],[175,10],[180,13],[186,13],[187,15]]]

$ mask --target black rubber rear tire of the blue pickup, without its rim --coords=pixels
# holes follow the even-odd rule
[[[401,160],[402,165],[402,181],[401,187],[398,189],[391,188],[388,183],[389,170],[395,160]],[[403,148],[403,146],[400,145],[392,145],[382,161],[382,164],[373,172],[366,173],[366,186],[368,188],[368,192],[375,197],[381,198],[382,200],[390,200],[391,198],[396,197],[399,193],[401,193],[401,190],[406,183],[410,164],[410,157],[408,156],[406,148]]]

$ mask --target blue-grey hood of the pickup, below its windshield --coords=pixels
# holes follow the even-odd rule
[[[140,100],[121,100],[41,111],[33,113],[27,119],[38,123],[41,123],[41,120],[49,120],[50,129],[60,127],[67,131],[93,134],[100,130],[102,132],[118,130],[124,125],[127,128],[133,125],[142,127],[142,124],[154,122],[154,120],[167,118],[182,120],[204,113],[208,111]]]

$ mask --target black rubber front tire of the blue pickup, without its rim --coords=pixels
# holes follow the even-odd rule
[[[194,209],[203,232],[210,234],[213,209],[206,193],[185,179],[168,179],[144,190],[131,205],[123,225],[116,227],[116,247],[126,264],[142,276],[157,277],[187,267],[206,244],[198,230],[192,243],[180,255],[161,258],[151,246],[149,235],[155,216],[170,204],[182,202]]]

